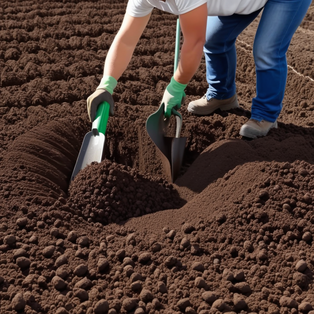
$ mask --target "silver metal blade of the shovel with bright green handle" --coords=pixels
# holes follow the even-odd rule
[[[71,181],[78,174],[78,171],[84,169],[93,161],[101,161],[104,144],[105,135],[103,133],[99,133],[97,129],[93,129],[92,131],[86,133],[78,154],[78,159],[76,160]]]

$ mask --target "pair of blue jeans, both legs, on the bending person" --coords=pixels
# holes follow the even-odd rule
[[[253,45],[256,97],[252,119],[275,122],[282,109],[287,82],[286,52],[312,0],[268,0]],[[206,97],[227,99],[236,93],[236,38],[261,12],[208,16],[206,44]]]

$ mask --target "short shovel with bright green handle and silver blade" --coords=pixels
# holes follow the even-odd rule
[[[88,132],[83,140],[78,159],[72,173],[71,181],[93,161],[100,162],[105,144],[105,132],[109,118],[110,105],[104,101],[97,107],[96,117],[92,124],[92,130]]]

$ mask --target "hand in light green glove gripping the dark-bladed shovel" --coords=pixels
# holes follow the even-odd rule
[[[171,116],[172,108],[179,109],[185,101],[184,89],[187,84],[177,82],[174,77],[171,78],[170,84],[166,87],[161,103],[165,104],[165,118]]]

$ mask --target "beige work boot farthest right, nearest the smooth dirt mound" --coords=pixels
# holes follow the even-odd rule
[[[242,125],[239,133],[249,138],[257,138],[258,136],[267,135],[268,131],[273,127],[277,129],[277,120],[275,122],[268,122],[265,120],[257,121],[250,119]]]

